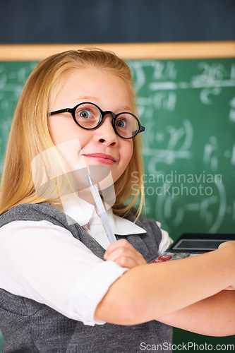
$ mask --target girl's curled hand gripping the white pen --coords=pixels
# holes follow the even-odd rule
[[[135,250],[126,239],[119,239],[110,244],[104,253],[104,260],[114,261],[124,268],[133,268],[146,263],[141,253]]]

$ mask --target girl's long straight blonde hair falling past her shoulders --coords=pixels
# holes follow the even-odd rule
[[[25,83],[13,117],[4,171],[1,177],[0,214],[19,203],[39,203],[42,201],[59,203],[58,184],[56,183],[54,191],[47,194],[42,193],[41,196],[37,194],[32,178],[31,162],[35,156],[42,155],[43,151],[51,148],[51,166],[49,167],[47,161],[44,162],[47,176],[50,178],[54,173],[52,169],[57,168],[56,175],[65,174],[59,187],[63,188],[63,185],[71,182],[61,155],[56,149],[53,150],[54,144],[47,124],[48,112],[56,95],[61,90],[66,74],[73,69],[89,67],[111,71],[114,75],[123,78],[135,97],[130,68],[112,52],[96,48],[68,51],[41,61]],[[128,212],[138,199],[140,199],[138,215],[143,208],[143,178],[138,178],[138,182],[135,183],[137,187],[135,187],[135,195],[133,196],[133,172],[137,172],[138,176],[143,175],[140,135],[133,138],[131,161],[114,184],[116,203],[112,208],[118,214]],[[42,176],[39,173],[37,177],[40,179]],[[128,205],[125,206],[126,201],[128,201]]]

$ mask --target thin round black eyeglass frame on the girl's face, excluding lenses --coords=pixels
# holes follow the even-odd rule
[[[76,116],[75,116],[75,112],[76,112],[76,109],[82,105],[82,104],[92,104],[94,105],[95,107],[97,107],[97,109],[99,110],[100,112],[100,120],[98,121],[98,124],[97,126],[95,126],[94,128],[85,128],[84,126],[81,126],[78,121],[76,120]],[[131,140],[131,138],[134,138],[135,136],[138,135],[138,133],[140,132],[143,132],[145,131],[145,127],[142,126],[140,124],[140,120],[138,119],[137,116],[135,116],[135,114],[132,114],[130,112],[121,112],[119,114],[115,114],[114,112],[112,112],[111,110],[105,110],[103,111],[97,104],[95,103],[92,103],[92,102],[82,102],[82,103],[79,103],[77,104],[75,107],[73,108],[64,108],[64,109],[59,109],[59,110],[55,110],[54,112],[50,112],[48,113],[48,116],[52,116],[52,115],[56,115],[56,114],[61,114],[61,113],[70,113],[72,116],[73,116],[73,120],[76,122],[76,124],[78,126],[80,126],[80,128],[84,128],[85,130],[95,130],[95,128],[98,128],[102,122],[104,121],[104,116],[106,116],[107,114],[110,114],[112,115],[112,127],[114,128],[114,131],[116,133],[116,135],[118,135],[119,137],[123,138],[124,140]],[[137,129],[137,132],[135,133],[135,135],[131,136],[131,137],[123,137],[121,136],[117,131],[116,131],[116,126],[115,126],[115,121],[116,121],[116,118],[118,116],[120,116],[121,114],[131,114],[138,122],[138,129]]]

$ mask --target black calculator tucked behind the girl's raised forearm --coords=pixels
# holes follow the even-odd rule
[[[184,233],[152,263],[207,253],[216,250],[224,241],[235,241],[235,234]]]

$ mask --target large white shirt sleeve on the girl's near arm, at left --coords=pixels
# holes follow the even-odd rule
[[[126,268],[102,261],[71,232],[47,221],[15,221],[0,229],[0,287],[52,307],[85,325]]]

